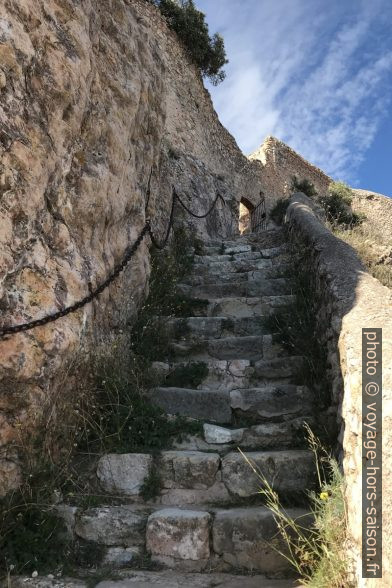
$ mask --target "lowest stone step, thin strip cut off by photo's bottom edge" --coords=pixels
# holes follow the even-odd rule
[[[125,577],[124,577],[125,576]],[[293,580],[270,580],[260,574],[242,576],[228,573],[183,573],[169,570],[159,572],[127,571],[122,573],[121,580],[104,580],[96,585],[96,588],[294,588]],[[20,584],[16,588],[23,588],[26,584]],[[30,586],[30,584],[27,584]],[[44,588],[43,586],[41,588]],[[45,588],[54,588],[48,585]],[[65,588],[59,585],[58,588]],[[87,584],[79,580],[72,581],[66,588],[87,588]]]

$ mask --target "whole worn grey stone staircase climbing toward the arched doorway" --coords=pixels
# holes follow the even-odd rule
[[[304,524],[305,491],[315,482],[303,441],[303,422],[313,420],[312,393],[296,381],[303,358],[288,355],[262,320],[293,299],[282,277],[289,264],[279,229],[211,242],[204,255],[195,256],[181,288],[208,304],[197,316],[167,321],[176,359],[162,358],[155,367],[169,373],[203,362],[208,374],[197,389],[160,387],[149,394],[167,414],[201,420],[203,434],[158,456],[104,455],[96,476],[113,504],[59,506],[79,540],[104,547],[103,564],[125,566],[124,577],[139,578],[141,586],[293,585],[279,579],[290,577],[276,551],[284,547],[259,495],[261,482],[238,451],[246,452]],[[145,502],[140,492],[151,471],[159,474],[161,487]],[[174,571],[132,572],[143,554]],[[210,583],[211,573],[222,575],[222,583]],[[165,577],[171,580],[165,583]]]

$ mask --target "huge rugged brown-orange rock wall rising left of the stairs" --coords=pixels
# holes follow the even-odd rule
[[[184,217],[201,236],[236,231],[240,198],[259,191],[258,164],[143,0],[2,2],[0,117],[2,325],[68,306],[107,277],[145,223],[151,170],[147,214],[158,235],[172,184],[196,212],[217,190],[227,200],[206,221]],[[33,433],[44,407],[55,419],[56,398],[82,383],[70,358],[116,337],[135,313],[148,244],[98,301],[0,341],[0,495],[20,478],[18,432]]]

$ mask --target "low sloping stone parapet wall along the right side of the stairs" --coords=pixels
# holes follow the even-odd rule
[[[347,484],[348,557],[356,585],[392,585],[392,294],[362,266],[355,251],[319,220],[314,204],[295,194],[287,226],[310,248],[322,307],[319,337],[328,349],[333,401],[341,426],[341,459]],[[383,329],[383,580],[362,579],[362,329]]]

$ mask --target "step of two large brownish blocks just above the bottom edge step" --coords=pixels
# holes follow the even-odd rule
[[[302,521],[307,515],[302,509],[289,509],[288,514]],[[165,508],[150,515],[146,545],[153,562],[172,569],[287,573],[290,566],[276,550],[278,546],[284,551],[285,546],[277,535],[273,514],[265,507]]]

